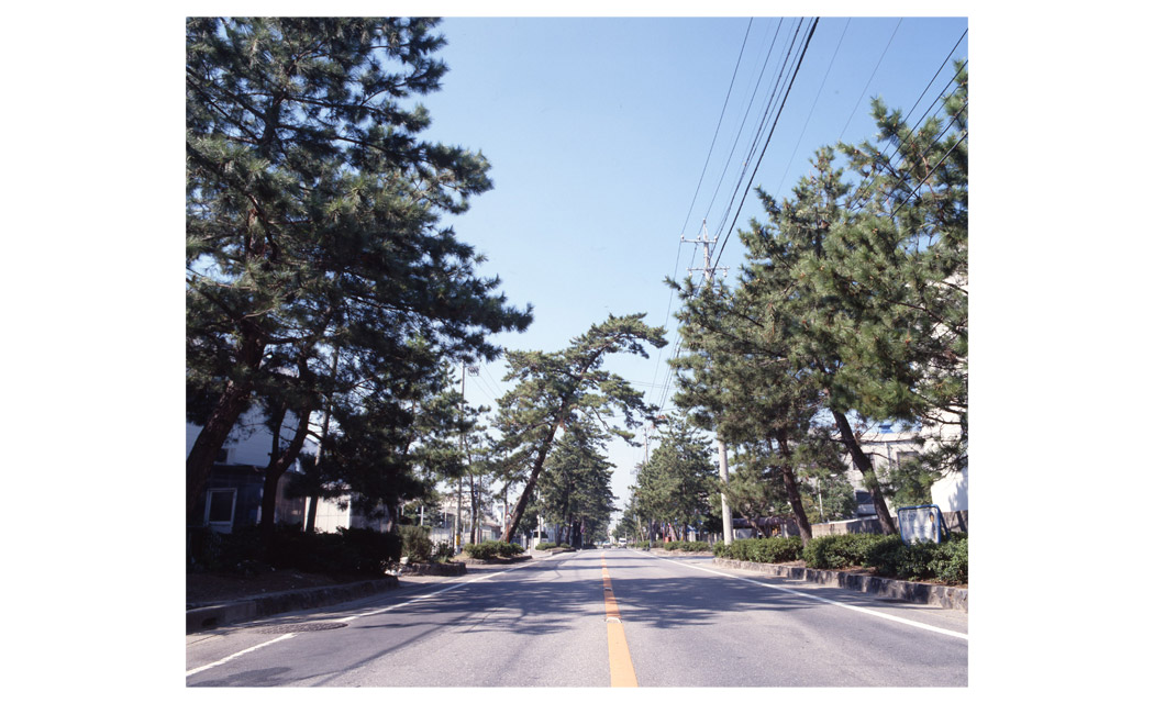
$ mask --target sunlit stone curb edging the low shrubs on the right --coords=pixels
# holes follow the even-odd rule
[[[846,572],[810,569],[802,566],[737,561],[736,559],[722,559],[720,557],[714,557],[713,564],[726,568],[762,572],[771,576],[792,579],[794,581],[808,581],[822,585],[844,588],[883,598],[896,598],[920,605],[937,605],[946,610],[969,612],[969,590],[964,588],[897,581],[894,579],[882,579],[864,574],[847,574]]]

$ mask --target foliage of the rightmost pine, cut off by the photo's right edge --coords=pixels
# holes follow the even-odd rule
[[[966,466],[968,437],[968,73],[956,63],[946,116],[916,128],[874,101],[881,143],[839,148],[860,179],[861,214],[831,242],[832,265],[815,273],[842,295],[853,324],[839,342],[872,369],[855,379],[860,410],[923,426],[953,426],[934,470]],[[886,151],[893,148],[893,153]]]

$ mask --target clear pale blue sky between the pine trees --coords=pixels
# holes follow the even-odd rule
[[[702,248],[681,241],[697,237],[703,220],[711,236],[729,237],[720,265],[736,273],[743,248],[734,221],[744,227],[764,214],[752,191],[736,209],[785,95],[784,60],[799,20],[444,20],[449,74],[421,100],[433,119],[427,135],[492,162],[494,189],[452,224],[488,257],[481,272],[500,275],[516,304],[533,304],[532,327],[501,337],[505,347],[559,350],[610,312],[645,312],[667,326],[669,346],[650,360],[610,358],[607,368],[650,402],[672,407],[666,360],[676,301],[662,281],[703,265]],[[752,184],[786,196],[815,149],[871,138],[875,96],[922,115],[953,75],[952,60],[938,74],[943,62],[968,56],[967,24],[823,17]],[[470,377],[469,401],[495,405],[503,375],[497,362]],[[609,458],[614,493],[624,499],[644,449],[619,441]]]

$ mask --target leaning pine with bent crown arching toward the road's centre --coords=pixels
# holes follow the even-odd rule
[[[642,323],[644,315],[613,315],[575,338],[555,353],[509,352],[507,381],[517,381],[499,401],[495,426],[510,461],[527,467],[525,487],[512,509],[502,539],[508,542],[529,507],[554,438],[562,426],[578,417],[595,418],[612,434],[632,440],[629,428],[640,426],[639,416],[652,415],[643,394],[601,366],[610,354],[649,357],[645,345],[665,346],[665,331]],[[625,429],[610,426],[608,418],[621,411]]]

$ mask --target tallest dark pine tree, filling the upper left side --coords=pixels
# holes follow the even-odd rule
[[[312,385],[293,407],[305,417],[325,379],[349,392],[424,376],[413,339],[435,356],[494,358],[487,335],[530,323],[439,226],[490,182],[481,154],[419,138],[429,116],[409,100],[445,71],[435,25],[187,21],[186,357],[203,419],[186,461],[189,512],[254,393],[293,376]],[[365,413],[402,417],[377,401]],[[345,419],[347,436],[357,421]]]

